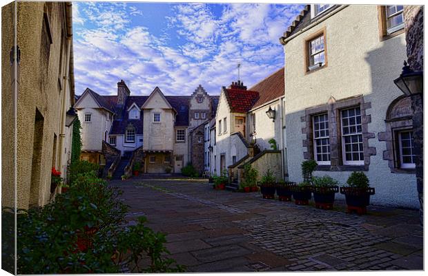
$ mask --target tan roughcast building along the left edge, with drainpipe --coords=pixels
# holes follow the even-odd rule
[[[16,183],[17,207],[28,208],[52,198],[51,168],[65,176],[70,160],[72,4],[14,2],[3,6],[1,18],[2,205],[13,204]]]

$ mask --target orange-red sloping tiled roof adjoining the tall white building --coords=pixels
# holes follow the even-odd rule
[[[257,83],[250,90],[259,92],[259,98],[252,108],[268,103],[275,98],[284,96],[284,67],[277,72],[271,74],[260,83]]]

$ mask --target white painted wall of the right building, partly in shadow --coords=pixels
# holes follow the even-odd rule
[[[364,19],[364,20],[362,20]],[[304,39],[326,28],[328,66],[305,74]],[[400,75],[402,62],[407,59],[405,34],[380,41],[378,10],[374,5],[351,5],[296,36],[285,46],[285,103],[286,146],[289,179],[301,181],[300,164],[304,160],[302,146],[304,135],[301,116],[304,109],[325,104],[330,96],[340,100],[358,94],[371,102],[369,132],[376,138],[369,139],[369,147],[376,147],[371,156],[367,173],[376,195],[374,204],[417,208],[416,177],[412,174],[391,173],[387,161],[382,159],[385,142],[378,140],[378,132],[385,131],[385,116],[391,101],[402,92],[393,79]],[[345,183],[350,171],[318,171],[317,176],[329,176]],[[342,198],[342,195],[338,195]]]

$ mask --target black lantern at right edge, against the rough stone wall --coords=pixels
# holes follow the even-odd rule
[[[400,76],[393,82],[406,96],[419,94],[423,89],[423,72],[411,70],[405,61]]]

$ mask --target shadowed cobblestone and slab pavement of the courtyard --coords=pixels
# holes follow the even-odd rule
[[[422,270],[418,211],[369,206],[347,214],[215,191],[204,180],[111,181],[131,206],[132,224],[167,233],[166,247],[188,272]],[[337,204],[336,204],[337,203]]]

